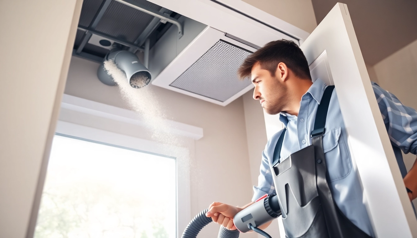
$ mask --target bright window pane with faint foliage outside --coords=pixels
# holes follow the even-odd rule
[[[55,135],[35,238],[175,238],[176,161]]]

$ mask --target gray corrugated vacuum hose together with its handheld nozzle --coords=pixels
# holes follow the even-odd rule
[[[191,220],[181,238],[196,238],[200,230],[213,221],[211,217],[206,217],[207,211],[208,208],[198,213]],[[228,230],[221,226],[219,238],[238,238],[239,231],[248,232],[249,230],[254,230],[267,238],[271,238],[270,235],[257,227],[274,220],[279,215],[281,215],[281,209],[279,208],[278,196],[275,194],[265,195],[234,216],[234,225],[238,230]]]

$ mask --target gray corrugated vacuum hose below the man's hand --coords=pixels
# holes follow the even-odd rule
[[[204,226],[211,223],[213,220],[211,217],[206,217],[208,208],[198,213],[193,220],[187,225],[181,238],[196,238],[198,233]],[[238,238],[239,230],[228,230],[224,226],[220,227],[219,238]]]

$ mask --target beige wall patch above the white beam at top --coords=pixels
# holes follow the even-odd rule
[[[316,27],[311,0],[243,0],[277,18],[290,23],[308,33]]]

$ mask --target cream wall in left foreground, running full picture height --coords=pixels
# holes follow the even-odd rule
[[[82,0],[0,1],[0,237],[23,238],[28,231],[81,4]]]

